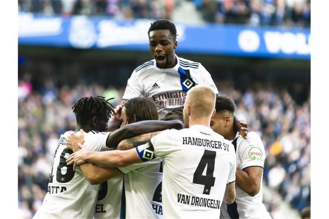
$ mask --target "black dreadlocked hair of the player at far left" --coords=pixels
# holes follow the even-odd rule
[[[114,99],[105,99],[105,97],[84,97],[79,99],[72,107],[77,124],[87,125],[91,124],[94,116],[99,119],[106,119],[110,114],[114,114],[114,106],[108,101]]]

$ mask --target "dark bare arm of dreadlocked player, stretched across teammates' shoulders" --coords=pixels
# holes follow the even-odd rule
[[[119,142],[124,139],[129,139],[134,136],[142,135],[150,132],[158,132],[166,129],[182,129],[183,123],[180,120],[159,121],[159,120],[146,120],[134,122],[119,128],[109,135],[106,140],[106,146],[110,148],[116,147]]]

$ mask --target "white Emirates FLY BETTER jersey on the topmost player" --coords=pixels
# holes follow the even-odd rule
[[[154,102],[162,119],[173,109],[183,109],[187,91],[197,84],[209,85],[218,94],[211,75],[199,62],[176,58],[176,66],[170,69],[158,68],[155,59],[136,68],[122,99],[144,96]]]

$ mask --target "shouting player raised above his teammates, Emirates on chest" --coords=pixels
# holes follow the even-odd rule
[[[187,92],[197,84],[209,85],[218,94],[209,72],[199,62],[175,54],[178,46],[175,24],[167,19],[151,23],[147,32],[153,60],[137,67],[128,79],[121,105],[127,99],[144,96],[157,106],[159,118],[173,109],[183,109]],[[120,106],[116,107],[118,111]],[[235,127],[247,136],[247,124],[234,118]],[[242,129],[241,129],[242,128]]]

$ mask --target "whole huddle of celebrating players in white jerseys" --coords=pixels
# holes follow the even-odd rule
[[[175,54],[176,36],[166,19],[151,24],[154,59],[121,105],[75,103],[76,130],[59,139],[34,218],[270,218],[262,140],[200,63]]]

